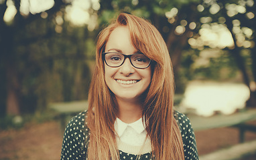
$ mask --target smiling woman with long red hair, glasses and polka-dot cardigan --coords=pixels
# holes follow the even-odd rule
[[[173,110],[168,49],[149,22],[121,13],[99,34],[88,111],[64,133],[62,159],[198,159],[188,118]]]

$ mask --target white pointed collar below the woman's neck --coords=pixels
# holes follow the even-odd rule
[[[115,121],[115,131],[117,132],[117,135],[121,137],[128,126],[132,127],[138,134],[145,130],[145,125],[143,125],[142,118],[133,123],[124,123],[121,121],[121,119],[117,118]]]

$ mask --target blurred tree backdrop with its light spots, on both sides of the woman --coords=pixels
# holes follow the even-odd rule
[[[72,9],[74,5],[80,8]],[[16,13],[7,21],[5,14],[12,6]],[[149,19],[160,31],[172,57],[177,92],[184,91],[186,79],[193,79],[196,72],[218,79],[220,70],[229,67],[235,75],[238,67],[247,86],[256,79],[253,0],[55,0],[38,13],[23,13],[21,6],[21,1],[0,1],[0,105],[5,106],[7,99],[7,113],[42,110],[51,101],[86,97],[88,88],[81,86],[88,87],[94,39],[121,11]],[[72,18],[70,11],[76,13]],[[76,26],[78,18],[84,19]],[[233,45],[206,39],[211,38],[209,31],[216,35],[220,28],[229,32]],[[195,67],[202,55],[208,55],[210,65]],[[255,105],[255,99],[251,89],[248,105]],[[1,110],[5,113],[5,107]]]

